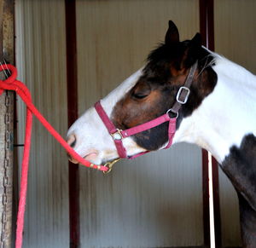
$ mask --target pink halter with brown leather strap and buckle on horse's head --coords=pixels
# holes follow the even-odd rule
[[[143,152],[143,153],[138,153],[133,156],[127,156],[125,147],[123,145],[123,139],[126,137],[134,136],[137,133],[141,133],[145,130],[150,130],[160,124],[169,122],[168,126],[168,144],[166,145],[166,148],[171,147],[172,145],[172,139],[173,136],[176,132],[176,119],[178,116],[178,111],[182,107],[183,104],[185,104],[188,99],[189,99],[189,94],[190,94],[190,86],[192,84],[194,75],[195,75],[195,70],[197,68],[197,61],[195,61],[195,64],[190,67],[189,74],[185,80],[185,83],[183,84],[182,87],[180,87],[177,91],[177,96],[176,96],[176,101],[172,108],[170,108],[165,114],[161,115],[158,118],[154,118],[153,120],[150,120],[144,124],[139,124],[135,127],[132,127],[128,130],[119,130],[117,129],[113,122],[108,118],[107,113],[104,111],[101,101],[97,101],[95,104],[96,112],[102,119],[103,124],[105,124],[106,128],[108,129],[108,133],[110,136],[112,136],[115,147],[119,153],[119,158],[122,159],[135,159],[145,153],[148,153],[149,151]],[[175,118],[171,118],[169,115],[169,112],[176,113]]]

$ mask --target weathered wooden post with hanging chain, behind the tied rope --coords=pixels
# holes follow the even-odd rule
[[[0,0],[0,62],[14,63],[14,0]],[[0,65],[1,66],[1,65]],[[1,79],[6,76],[2,72]],[[0,247],[11,247],[14,93],[0,95]]]

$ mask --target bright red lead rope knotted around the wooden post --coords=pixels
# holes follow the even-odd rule
[[[14,90],[22,101],[26,103],[26,136],[24,144],[24,154],[22,159],[22,170],[21,170],[21,180],[20,180],[20,201],[19,210],[17,216],[17,228],[16,228],[16,243],[15,247],[20,248],[22,245],[22,233],[24,226],[24,213],[26,205],[26,187],[27,187],[27,172],[28,172],[28,162],[29,162],[29,152],[31,146],[31,134],[32,134],[32,115],[34,114],[38,120],[44,125],[44,127],[49,131],[49,133],[55,137],[57,141],[61,143],[61,146],[67,150],[73,159],[79,161],[80,164],[84,166],[94,168],[97,170],[108,171],[108,167],[102,165],[91,164],[89,161],[83,159],[76,153],[72,147],[70,147],[67,142],[56,132],[56,130],[49,124],[49,122],[44,118],[44,116],[38,111],[38,109],[32,104],[32,98],[29,90],[24,84],[16,80],[17,69],[12,65],[3,65],[0,68],[0,72],[3,70],[8,70],[11,75],[6,80],[0,80],[0,95],[2,95],[3,90]]]

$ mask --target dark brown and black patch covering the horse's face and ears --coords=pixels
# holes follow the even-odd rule
[[[201,47],[200,35],[183,42],[179,42],[178,37],[177,27],[169,22],[166,43],[148,55],[143,75],[113,108],[112,120],[117,128],[125,130],[166,113],[176,101],[177,91],[183,86],[195,61],[198,61],[198,69],[190,88],[189,101],[179,111],[177,128],[182,119],[191,115],[212,92],[217,75],[209,66],[213,57]],[[133,138],[140,147],[156,150],[167,142],[167,132],[168,124],[164,123]]]

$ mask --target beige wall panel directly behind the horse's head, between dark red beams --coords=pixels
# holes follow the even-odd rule
[[[143,66],[174,20],[199,31],[198,1],[77,1],[79,113]],[[80,168],[82,247],[203,244],[201,149],[180,144],[103,176]]]

